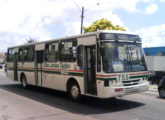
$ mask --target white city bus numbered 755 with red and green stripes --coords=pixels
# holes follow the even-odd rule
[[[97,31],[8,48],[7,76],[23,87],[35,85],[111,98],[147,91],[148,71],[140,37]]]

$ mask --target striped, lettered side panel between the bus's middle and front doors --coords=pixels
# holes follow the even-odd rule
[[[43,86],[66,91],[67,82],[69,79],[75,79],[81,88],[83,89],[83,74],[77,67],[77,64],[66,62],[45,62],[43,68]]]

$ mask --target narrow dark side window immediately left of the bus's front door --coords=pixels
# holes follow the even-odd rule
[[[83,46],[77,48],[77,64],[79,67],[83,67]]]

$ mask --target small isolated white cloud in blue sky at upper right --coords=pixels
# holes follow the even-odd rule
[[[157,4],[150,4],[148,7],[145,9],[145,14],[152,14],[155,13],[158,10]]]

